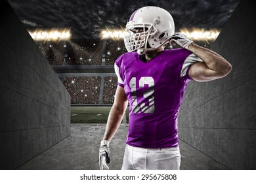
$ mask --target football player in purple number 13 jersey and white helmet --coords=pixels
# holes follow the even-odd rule
[[[121,169],[179,169],[177,116],[186,85],[190,80],[223,78],[232,66],[219,54],[175,33],[173,18],[163,8],[133,12],[126,30],[128,53],[114,65],[118,85],[100,144],[100,169],[108,169],[109,144],[128,102],[129,130]],[[165,50],[168,43],[182,48]]]

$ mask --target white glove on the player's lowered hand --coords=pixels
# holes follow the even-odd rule
[[[110,141],[101,141],[100,142],[100,154],[98,156],[100,170],[108,170],[107,163],[110,163]]]

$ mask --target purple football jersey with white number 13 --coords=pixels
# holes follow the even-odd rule
[[[186,61],[190,54],[179,48],[164,50],[148,63],[142,62],[137,52],[116,60],[118,84],[130,105],[127,144],[142,148],[177,146],[177,116],[191,80],[188,70],[193,61]]]

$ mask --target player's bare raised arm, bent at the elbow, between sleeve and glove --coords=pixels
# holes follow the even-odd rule
[[[188,50],[202,59],[202,62],[194,63],[188,75],[196,81],[204,82],[223,78],[230,73],[232,66],[219,54],[197,44],[190,44]]]

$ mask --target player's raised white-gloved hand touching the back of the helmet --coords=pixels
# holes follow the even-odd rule
[[[188,46],[192,43],[190,39],[188,39],[183,33],[175,33],[170,37],[169,43],[173,46],[179,44],[182,48],[186,48],[188,50]]]

